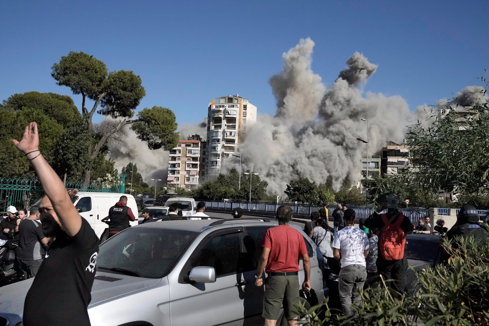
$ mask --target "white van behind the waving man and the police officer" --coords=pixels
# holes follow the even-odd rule
[[[137,205],[136,200],[132,195],[118,193],[91,193],[79,192],[71,198],[80,215],[89,221],[90,226],[95,231],[97,237],[100,238],[104,230],[108,227],[102,222],[102,218],[109,216],[109,209],[119,201],[121,196],[127,197],[127,206],[131,208],[134,217],[133,222],[129,222],[131,226],[137,225]],[[39,201],[34,205],[39,205]]]

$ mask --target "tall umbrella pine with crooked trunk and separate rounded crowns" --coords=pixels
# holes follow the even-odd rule
[[[91,161],[97,157],[111,137],[124,126],[133,123],[137,123],[134,131],[138,138],[147,141],[150,149],[163,147],[169,150],[177,146],[177,124],[175,115],[170,114],[169,109],[143,109],[138,119],[130,120],[146,94],[141,85],[141,78],[133,71],[119,70],[108,73],[107,66],[93,56],[83,52],[70,52],[52,66],[51,76],[58,85],[70,87],[73,94],[82,95],[82,113],[87,130],[93,129],[92,118],[95,112],[113,118],[123,118],[115,123],[105,123],[104,128],[98,129],[97,142],[94,146],[90,144],[87,151]],[[87,97],[94,101],[91,109],[85,106]],[[92,162],[89,163],[84,174],[86,182],[89,182],[91,175]]]

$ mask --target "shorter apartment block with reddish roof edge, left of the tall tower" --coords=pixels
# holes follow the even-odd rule
[[[202,142],[199,139],[180,140],[178,146],[170,151],[167,178],[169,186],[197,188],[201,166],[201,146]]]

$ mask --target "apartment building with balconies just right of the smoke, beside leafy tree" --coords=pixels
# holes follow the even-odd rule
[[[405,173],[408,169],[412,168],[409,163],[409,158],[409,146],[390,141],[387,147],[382,147],[380,170],[382,174],[387,176]]]

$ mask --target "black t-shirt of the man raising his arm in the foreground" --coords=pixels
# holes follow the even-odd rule
[[[49,247],[25,297],[24,326],[88,326],[99,239],[82,218],[80,231]]]

